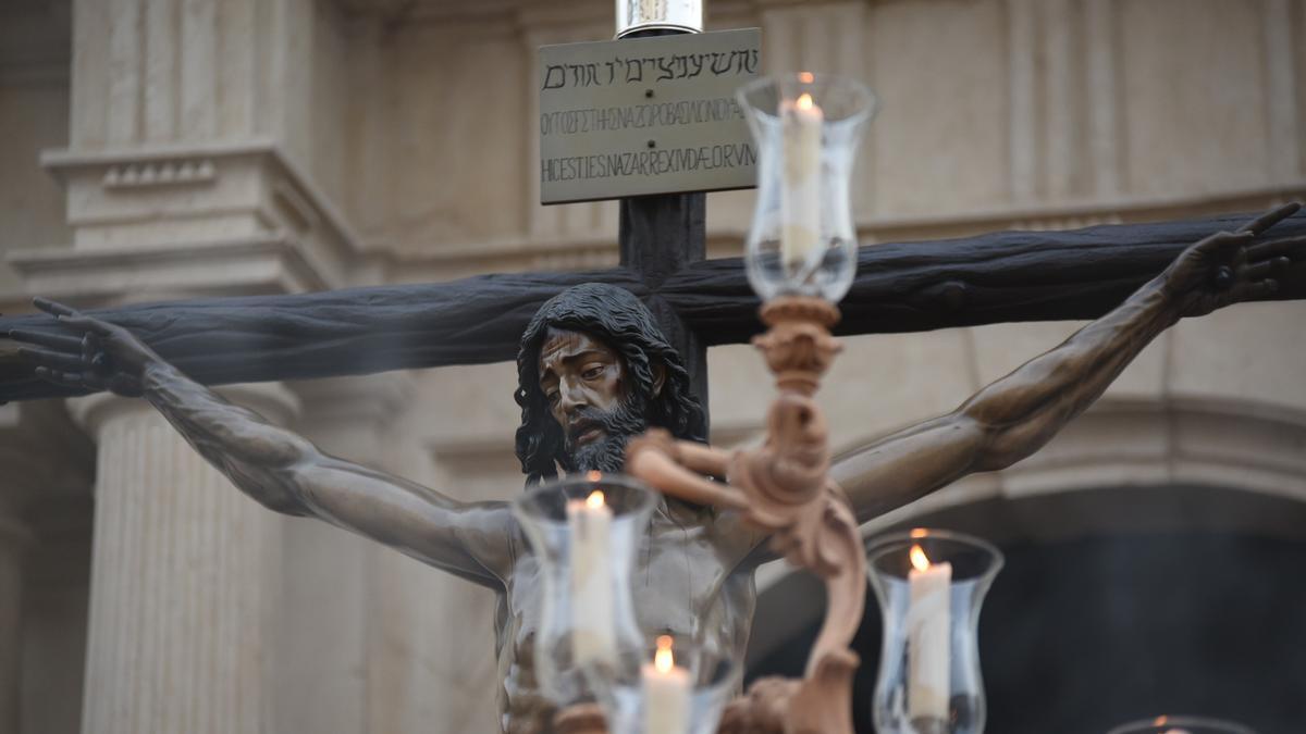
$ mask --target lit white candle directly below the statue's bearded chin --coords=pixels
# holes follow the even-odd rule
[[[603,492],[594,490],[584,500],[568,500],[567,525],[572,533],[572,657],[577,666],[613,662],[616,660],[616,626],[607,550],[613,511],[605,504]]]

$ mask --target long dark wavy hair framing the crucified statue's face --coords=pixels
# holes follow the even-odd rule
[[[616,350],[626,363],[631,389],[648,406],[650,426],[666,428],[678,439],[707,441],[703,404],[690,389],[690,374],[680,355],[662,336],[653,313],[629,291],[605,283],[582,283],[549,299],[526,327],[517,350],[517,392],[521,427],[517,428],[517,458],[526,483],[558,475],[563,432],[539,389],[539,349],[549,328],[584,332]],[[653,364],[666,370],[662,391],[653,394]]]

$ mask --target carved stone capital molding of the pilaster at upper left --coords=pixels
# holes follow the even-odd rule
[[[359,268],[362,244],[336,205],[269,140],[48,150],[40,162],[68,191],[76,252],[212,253],[215,243],[281,240],[313,273],[295,278],[306,289],[360,285],[358,274],[371,272]],[[10,259],[20,272],[76,268],[50,248]]]

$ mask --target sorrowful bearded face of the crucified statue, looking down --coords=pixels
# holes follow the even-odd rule
[[[539,389],[563,431],[564,469],[620,471],[626,443],[648,427],[622,355],[584,332],[550,328]]]

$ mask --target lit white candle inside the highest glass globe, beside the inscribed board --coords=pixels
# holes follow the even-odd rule
[[[803,81],[811,81],[806,74]],[[820,135],[825,115],[803,93],[781,103],[785,182],[780,188],[780,256],[786,270],[802,272],[820,244]]]

